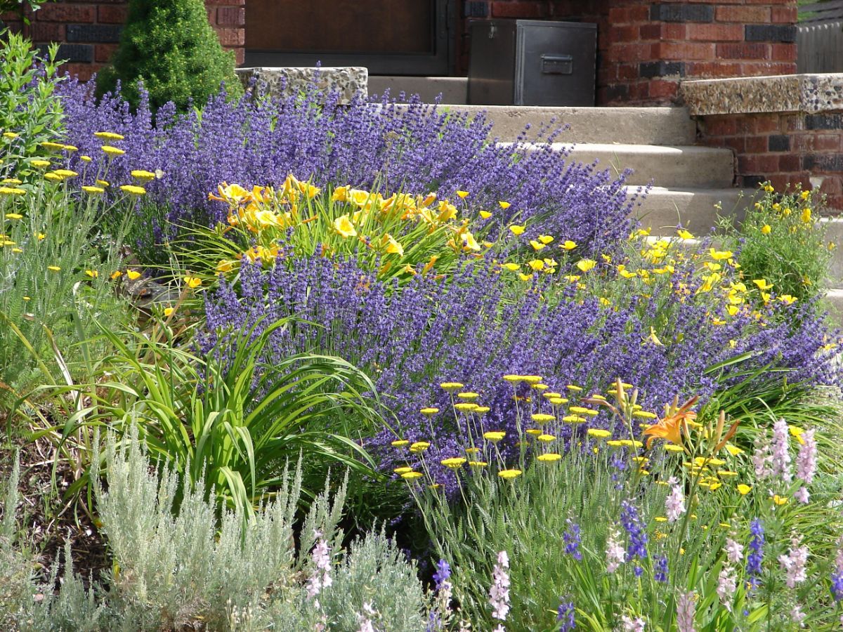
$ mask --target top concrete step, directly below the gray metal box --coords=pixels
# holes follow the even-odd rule
[[[564,142],[631,145],[693,145],[696,126],[685,108],[580,108],[516,105],[450,105],[443,110],[476,115],[486,112],[492,123],[491,136],[499,141],[516,141],[529,125],[527,140],[535,140],[543,124],[556,122],[551,129],[569,125],[558,140]]]

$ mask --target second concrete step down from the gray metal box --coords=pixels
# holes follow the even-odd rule
[[[512,143],[501,143],[511,145]],[[519,143],[525,152],[547,147],[545,143]],[[631,145],[620,143],[583,143],[570,145],[555,142],[550,147],[566,152],[569,162],[593,163],[599,169],[620,174],[632,169],[627,182],[671,189],[723,189],[732,185],[734,158],[731,149],[722,147],[685,147],[665,145]]]

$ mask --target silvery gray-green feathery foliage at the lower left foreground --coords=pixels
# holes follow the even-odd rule
[[[98,443],[99,444],[99,443]],[[102,457],[102,458],[100,458]],[[32,560],[14,548],[13,471],[0,523],[0,624],[24,630],[325,629],[357,630],[363,619],[378,630],[424,629],[427,596],[416,566],[384,533],[358,539],[343,558],[338,527],[346,482],[310,503],[294,531],[302,492],[301,467],[287,469],[272,501],[248,518],[207,499],[204,484],[191,489],[168,469],[149,462],[137,430],[113,434],[104,463],[108,486],[94,484],[102,532],[113,564],[104,590],[86,589],[64,550],[44,586],[36,586]],[[296,545],[298,539],[298,547]],[[327,546],[328,573],[316,594],[314,546]],[[93,578],[92,578],[93,579]],[[324,579],[324,578],[323,578]],[[42,596],[35,599],[36,594]]]

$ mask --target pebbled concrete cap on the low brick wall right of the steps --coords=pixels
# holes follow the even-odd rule
[[[683,81],[691,115],[843,110],[843,73]]]

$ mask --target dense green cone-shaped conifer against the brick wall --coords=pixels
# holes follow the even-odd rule
[[[234,74],[234,52],[223,51],[208,23],[202,0],[132,0],[120,46],[100,73],[97,92],[115,90],[137,108],[142,88],[153,110],[172,101],[178,110],[191,99],[204,104],[224,83],[228,94],[242,94]]]

